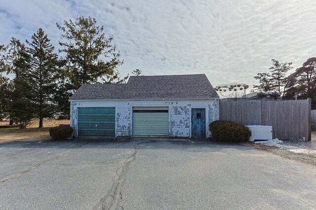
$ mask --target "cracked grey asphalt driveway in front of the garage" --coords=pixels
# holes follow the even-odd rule
[[[0,144],[0,210],[316,209],[316,168],[242,145]]]

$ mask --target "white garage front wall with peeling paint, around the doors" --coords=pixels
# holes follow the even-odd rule
[[[191,137],[191,109],[205,108],[206,135],[211,135],[208,124],[219,118],[218,99],[213,100],[142,100],[142,101],[72,101],[71,126],[77,132],[79,107],[116,107],[116,136],[132,136],[132,116],[134,106],[168,106],[169,136]]]

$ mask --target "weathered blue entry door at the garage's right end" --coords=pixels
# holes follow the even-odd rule
[[[192,109],[191,113],[191,137],[205,138],[205,109]]]

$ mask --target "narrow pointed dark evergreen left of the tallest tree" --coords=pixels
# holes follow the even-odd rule
[[[16,82],[27,90],[25,97],[32,102],[33,114],[40,120],[39,127],[43,127],[43,119],[54,111],[57,54],[42,29],[26,43],[28,47],[17,64],[21,71]]]

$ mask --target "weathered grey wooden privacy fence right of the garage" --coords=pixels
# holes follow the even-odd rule
[[[227,100],[219,103],[220,120],[242,125],[270,125],[273,138],[311,140],[311,99]]]

